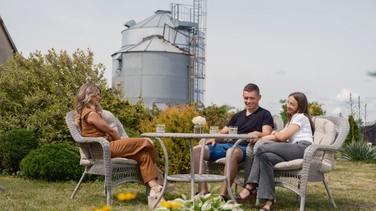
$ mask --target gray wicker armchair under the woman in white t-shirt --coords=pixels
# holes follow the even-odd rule
[[[335,142],[332,145],[313,144],[309,146],[304,152],[303,168],[300,170],[274,170],[275,186],[285,187],[294,191],[297,194],[295,203],[299,203],[299,197],[301,197],[300,211],[303,211],[305,206],[307,182],[322,181],[329,195],[329,199],[332,202],[333,208],[337,208],[325,181],[325,176],[323,173],[319,172],[319,169],[324,155],[326,153],[334,154],[334,151],[337,151],[343,145],[346,136],[349,133],[349,122],[345,118],[339,116],[317,116],[317,118],[323,118],[333,122],[336,128]],[[253,153],[256,154],[259,146],[270,143],[276,142],[259,140],[253,148]],[[256,205],[259,204],[260,200],[257,199]]]

